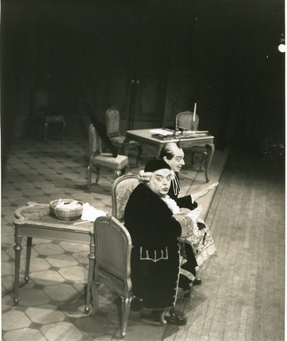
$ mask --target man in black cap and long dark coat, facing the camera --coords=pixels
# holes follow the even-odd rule
[[[124,214],[133,244],[133,294],[144,308],[165,310],[167,323],[184,325],[186,319],[170,308],[175,306],[180,278],[178,237],[188,235],[193,220],[174,214],[163,200],[173,176],[170,166],[163,160],[151,160],[145,172],[151,173],[151,178],[134,189]]]

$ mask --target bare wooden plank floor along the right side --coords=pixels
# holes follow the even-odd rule
[[[181,305],[185,328],[162,340],[284,340],[285,196],[283,167],[231,153],[207,215],[217,256],[202,286]]]

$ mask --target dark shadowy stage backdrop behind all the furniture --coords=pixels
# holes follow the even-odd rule
[[[99,119],[119,107],[124,129],[170,124],[197,102],[217,148],[279,143],[283,33],[283,0],[1,1],[2,158],[13,139],[38,138],[38,88],[70,136],[87,134],[83,101]]]

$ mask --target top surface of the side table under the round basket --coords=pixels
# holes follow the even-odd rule
[[[92,232],[94,222],[85,222],[80,217],[73,220],[62,220],[50,212],[50,205],[28,202],[26,206],[15,211],[15,226],[30,225],[33,227],[49,227],[70,230],[72,232]],[[79,224],[78,224],[79,223]]]

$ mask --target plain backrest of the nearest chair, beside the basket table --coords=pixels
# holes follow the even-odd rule
[[[114,217],[94,222],[95,278],[119,293],[131,290],[131,236]]]

